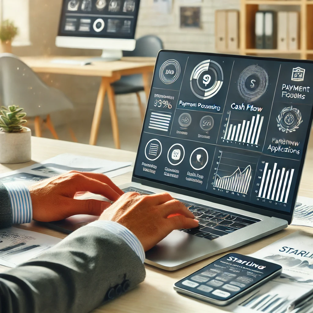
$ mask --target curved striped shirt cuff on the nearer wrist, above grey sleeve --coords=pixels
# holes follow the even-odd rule
[[[89,227],[89,226],[103,228],[103,229],[108,230],[111,233],[114,233],[115,235],[119,236],[139,256],[142,263],[144,263],[144,261],[145,261],[145,250],[143,249],[141,242],[125,226],[123,226],[119,223],[116,223],[116,222],[103,221],[103,220],[98,220],[98,221],[92,222],[92,223],[86,225],[85,227]]]

